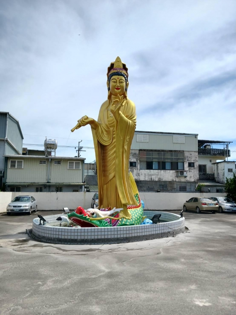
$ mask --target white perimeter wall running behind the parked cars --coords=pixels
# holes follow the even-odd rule
[[[27,193],[26,193],[27,194]],[[23,192],[0,192],[0,212],[6,212],[11,200]],[[76,209],[78,206],[88,209],[94,192],[34,192],[32,196],[37,200],[38,210],[62,210],[63,207]],[[219,197],[225,194],[217,193]],[[214,197],[212,193],[185,192],[140,192],[140,198],[145,204],[145,210],[179,210],[183,203],[192,197]]]

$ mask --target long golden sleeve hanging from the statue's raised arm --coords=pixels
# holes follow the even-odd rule
[[[129,179],[129,155],[135,127],[135,105],[131,100],[127,100],[121,110],[116,130],[115,180],[121,202],[138,205]]]

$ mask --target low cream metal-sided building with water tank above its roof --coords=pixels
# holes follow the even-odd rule
[[[82,192],[82,157],[5,155],[6,191],[11,192]]]

